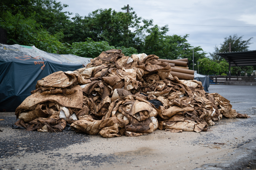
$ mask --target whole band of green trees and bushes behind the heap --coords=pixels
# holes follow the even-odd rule
[[[88,16],[70,18],[68,5],[56,0],[12,0],[0,2],[0,28],[8,33],[7,44],[36,46],[49,53],[97,57],[102,51],[121,49],[125,55],[146,53],[163,59],[188,58],[189,69],[199,66],[204,75],[226,75],[228,63],[214,53],[223,52],[231,42],[232,51],[248,50],[251,39],[242,40],[236,34],[224,38],[220,48],[207,53],[188,43],[186,35],[166,35],[168,26],[160,27],[153,20],[138,17],[132,7],[121,11],[98,9]],[[65,12],[64,12],[65,11]],[[197,65],[199,62],[199,65]],[[232,75],[252,72],[253,67],[232,67]]]

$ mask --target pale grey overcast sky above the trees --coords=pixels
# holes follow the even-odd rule
[[[80,16],[97,9],[122,11],[129,4],[138,17],[153,19],[158,26],[169,26],[167,35],[189,34],[188,43],[206,53],[220,46],[224,37],[237,34],[243,40],[253,37],[249,50],[256,50],[255,0],[57,0],[69,7],[64,11]],[[232,47],[231,47],[232,50]]]

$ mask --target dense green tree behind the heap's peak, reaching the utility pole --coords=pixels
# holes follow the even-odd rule
[[[126,9],[126,6],[122,8],[122,10]],[[110,46],[135,47],[134,39],[137,32],[132,30],[139,30],[143,26],[140,26],[141,18],[137,17],[132,9],[129,7],[131,11],[129,13],[117,12],[111,8],[98,9],[85,17],[76,14],[76,17],[72,18],[74,22],[70,24],[68,34],[80,38],[69,37],[69,41],[84,41],[89,37],[93,41],[107,41]]]

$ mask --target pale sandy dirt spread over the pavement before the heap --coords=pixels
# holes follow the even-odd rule
[[[16,156],[2,157],[0,165],[9,164],[13,169],[194,169],[206,163],[231,159],[231,152],[255,137],[256,128],[244,126],[252,119],[255,120],[254,115],[249,119],[223,119],[216,122],[210,129],[212,131],[201,133],[156,130],[139,137],[86,135],[89,141],[79,144],[72,141],[74,144],[65,148],[37,153],[22,151]],[[6,128],[1,136],[8,137],[20,130]],[[40,141],[27,137],[34,147],[39,147]],[[19,146],[16,149],[19,150]],[[9,168],[2,166],[2,169]]]

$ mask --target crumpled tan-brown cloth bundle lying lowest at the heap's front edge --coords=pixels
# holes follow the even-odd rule
[[[84,132],[89,135],[98,135],[102,137],[114,137],[124,134],[125,122],[122,119],[111,117],[104,120],[94,120],[88,115],[83,120],[78,120],[70,126],[76,132]]]

